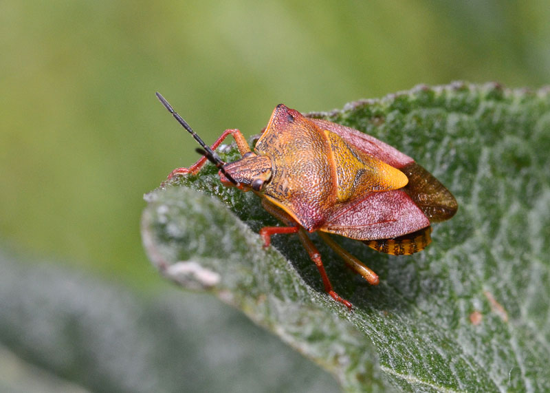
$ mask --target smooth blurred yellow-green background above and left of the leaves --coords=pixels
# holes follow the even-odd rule
[[[141,246],[142,195],[197,154],[156,91],[212,142],[256,134],[278,103],[539,87],[549,21],[543,0],[3,1],[2,248],[157,296],[170,284]]]

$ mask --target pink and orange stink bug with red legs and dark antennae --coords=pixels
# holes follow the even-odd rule
[[[307,118],[278,105],[256,142],[254,151],[238,129],[226,129],[208,147],[186,121],[157,93],[162,104],[199,142],[203,155],[189,168],[174,169],[172,178],[199,172],[206,159],[219,168],[221,182],[252,190],[262,205],[285,226],[261,229],[264,245],[276,233],[297,233],[316,264],[333,299],[352,305],[332,288],[320,253],[307,236],[320,237],[370,284],[378,276],[327,233],[361,240],[382,253],[409,255],[430,242],[432,222],[448,220],[458,205],[454,196],[412,158],[362,132]],[[214,152],[232,135],[242,158],[225,163]]]

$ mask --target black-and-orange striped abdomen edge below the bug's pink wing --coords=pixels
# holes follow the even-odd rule
[[[407,233],[393,239],[364,240],[363,242],[376,251],[380,251],[380,253],[410,255],[422,251],[432,242],[431,233],[432,227],[426,226],[426,228],[419,231]]]

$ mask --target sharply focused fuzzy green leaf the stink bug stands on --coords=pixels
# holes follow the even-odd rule
[[[371,287],[311,235],[349,312],[296,235],[262,248],[257,233],[276,220],[208,164],[146,195],[155,266],[240,308],[344,390],[549,391],[550,89],[419,86],[310,116],[388,142],[454,193],[459,211],[425,251],[394,257],[335,237],[380,275]]]

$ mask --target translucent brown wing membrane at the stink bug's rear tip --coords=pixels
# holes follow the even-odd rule
[[[408,178],[408,184],[403,188],[430,222],[449,220],[456,213],[459,205],[452,193],[423,169],[416,162],[411,162],[400,168]]]

